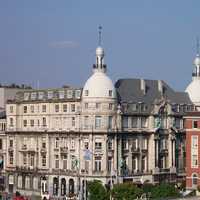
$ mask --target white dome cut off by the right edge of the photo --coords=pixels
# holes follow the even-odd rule
[[[185,90],[194,104],[200,105],[200,79],[195,78]]]

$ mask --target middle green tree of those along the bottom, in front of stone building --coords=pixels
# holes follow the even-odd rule
[[[141,196],[142,190],[132,183],[121,183],[114,185],[111,194],[115,200],[133,200]]]

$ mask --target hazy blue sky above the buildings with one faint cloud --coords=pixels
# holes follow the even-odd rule
[[[108,75],[183,91],[200,36],[199,0],[1,0],[0,83],[83,87],[98,26]]]

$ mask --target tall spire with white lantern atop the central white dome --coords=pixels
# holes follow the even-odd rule
[[[102,26],[98,27],[98,47],[96,48],[96,64],[93,66],[94,72],[106,72],[106,65],[104,64],[104,49],[101,47],[102,43]]]

